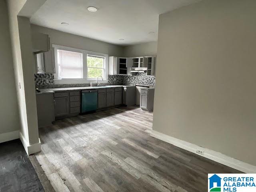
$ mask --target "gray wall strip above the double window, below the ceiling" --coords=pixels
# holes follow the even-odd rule
[[[122,56],[124,51],[122,46],[117,46],[38,25],[31,25],[31,30],[32,32],[48,34],[52,44],[105,53],[109,56]]]

